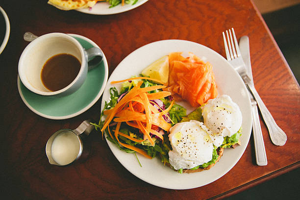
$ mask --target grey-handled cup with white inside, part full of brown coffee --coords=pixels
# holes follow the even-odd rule
[[[99,48],[85,50],[68,34],[49,33],[27,45],[21,54],[18,72],[31,92],[42,96],[66,96],[80,88],[88,71],[102,58]]]

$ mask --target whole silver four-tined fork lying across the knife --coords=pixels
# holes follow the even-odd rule
[[[229,35],[228,35],[228,32],[229,32]],[[233,35],[234,40],[232,39],[232,35]],[[259,97],[259,94],[257,93],[257,91],[254,87],[254,84],[251,82],[250,77],[247,75],[246,65],[241,56],[240,48],[237,43],[234,29],[232,28],[232,34],[231,34],[230,29],[229,29],[229,31],[226,30],[226,36],[227,36],[229,50],[228,50],[228,46],[226,43],[225,33],[223,32],[224,46],[225,46],[227,60],[241,75],[245,84],[248,86],[252,95],[254,96],[254,98],[258,104],[258,107],[261,111],[262,117],[268,127],[270,138],[271,138],[271,141],[273,142],[273,144],[275,144],[277,146],[284,145],[287,140],[287,136],[283,132],[283,130],[275,123],[273,116],[269,112],[269,110],[266,107],[266,105],[264,104],[264,102]]]

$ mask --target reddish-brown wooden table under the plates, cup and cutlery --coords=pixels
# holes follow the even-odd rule
[[[1,64],[1,192],[11,199],[219,199],[236,194],[300,166],[300,87],[273,36],[250,0],[149,0],[116,15],[61,11],[47,0],[5,1],[11,33]],[[28,42],[23,34],[50,32],[86,36],[104,51],[109,75],[133,50],[164,39],[190,40],[225,56],[222,31],[250,37],[255,87],[288,140],[271,143],[261,127],[267,166],[255,164],[253,139],[238,163],[220,179],[190,190],[150,185],[128,173],[100,134],[90,135],[92,152],[83,163],[50,165],[45,145],[52,133],[75,128],[83,120],[99,120],[100,100],[89,110],[66,120],[50,120],[29,110],[18,93],[18,60]],[[237,178],[233,178],[237,177]]]

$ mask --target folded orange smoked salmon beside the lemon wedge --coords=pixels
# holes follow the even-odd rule
[[[182,52],[169,54],[168,88],[175,100],[187,100],[198,107],[218,96],[212,65],[204,63],[193,53],[183,57]]]

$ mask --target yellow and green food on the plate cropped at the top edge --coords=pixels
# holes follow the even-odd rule
[[[74,10],[79,8],[92,8],[98,1],[107,1],[110,7],[126,4],[135,4],[138,0],[49,0],[50,5],[61,10]]]

